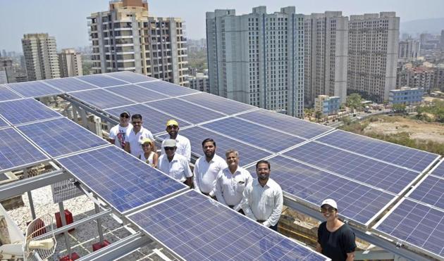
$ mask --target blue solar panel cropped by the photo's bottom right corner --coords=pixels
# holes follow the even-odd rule
[[[405,210],[402,208],[409,208],[409,210]],[[421,208],[421,212],[419,212],[419,214],[416,213],[413,214],[412,213],[413,210],[418,210],[418,208]],[[400,214],[400,212],[402,214]],[[438,224],[433,224],[433,223],[431,224],[432,226],[434,226],[434,229],[432,230],[426,229],[424,227],[426,226],[425,223],[421,224],[421,221],[424,220],[428,215],[433,215],[433,218],[426,219],[428,220],[428,222],[438,223]],[[395,229],[397,229],[399,226],[402,226],[402,229],[411,229],[411,227],[406,226],[404,224],[406,219],[409,219],[410,222],[414,222],[415,224],[414,229],[407,232],[395,231]],[[418,219],[420,220],[418,221]],[[386,224],[385,222],[391,224]],[[433,233],[438,233],[437,232],[438,229],[436,229],[438,226],[441,229],[439,230],[438,236],[435,236]],[[372,231],[376,232],[377,234],[386,236],[387,238],[390,238],[397,243],[402,243],[402,245],[408,246],[409,248],[412,248],[422,253],[426,253],[431,257],[437,258],[438,260],[444,258],[444,247],[443,247],[444,244],[442,244],[444,238],[444,212],[442,210],[438,210],[437,208],[433,208],[429,205],[424,205],[423,203],[410,200],[409,198],[401,198],[401,200],[389,212],[387,212],[387,214],[383,218],[381,218],[374,225],[374,227],[372,227]],[[424,234],[424,231],[426,231],[426,235],[424,236],[427,236],[427,239],[422,246],[419,246],[419,241],[417,242],[409,241],[410,236],[419,236],[421,234]],[[407,235],[407,233],[409,234]],[[433,236],[432,238],[433,240],[436,240],[436,238],[440,238],[441,245],[436,245],[436,242],[440,242],[439,240],[428,241],[428,238],[430,238],[431,236]],[[427,246],[428,248],[425,248],[424,245]],[[430,246],[435,246],[436,248],[440,248],[441,250],[439,253],[434,253],[433,250],[430,249]]]

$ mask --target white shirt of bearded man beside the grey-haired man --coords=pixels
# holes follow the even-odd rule
[[[205,156],[198,158],[193,171],[195,174],[193,183],[195,184],[196,191],[209,193],[210,196],[214,196],[217,174],[226,167],[228,167],[226,161],[216,154],[214,154],[210,162],[206,161]]]

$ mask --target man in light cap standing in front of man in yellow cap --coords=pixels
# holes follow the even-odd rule
[[[192,172],[188,160],[176,151],[175,140],[166,139],[162,143],[165,153],[159,158],[159,170],[168,176],[191,187]]]

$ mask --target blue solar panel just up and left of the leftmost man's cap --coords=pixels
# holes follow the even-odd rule
[[[89,103],[90,105],[99,108],[113,108],[118,106],[125,106],[134,104],[133,101],[130,101],[121,96],[117,96],[116,94],[112,94],[109,91],[105,91],[104,89],[94,89],[90,91],[76,91],[70,94],[75,98],[78,98],[80,101],[85,103]]]

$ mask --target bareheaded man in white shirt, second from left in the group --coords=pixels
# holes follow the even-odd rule
[[[148,129],[142,127],[142,115],[132,115],[131,121],[132,131],[128,134],[128,138],[126,139],[125,151],[139,158],[139,155],[143,152],[142,146],[140,146],[142,139],[148,138],[154,141],[154,136]]]

